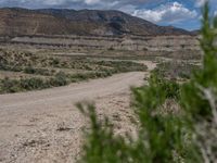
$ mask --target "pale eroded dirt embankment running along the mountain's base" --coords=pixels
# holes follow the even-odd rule
[[[23,36],[1,43],[34,46],[39,48],[69,48],[88,50],[138,50],[178,51],[200,50],[197,36],[146,36],[146,37],[101,37],[101,36]]]

